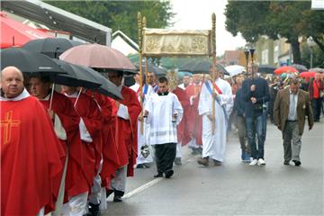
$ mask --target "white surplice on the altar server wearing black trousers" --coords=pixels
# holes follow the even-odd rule
[[[176,143],[176,125],[182,120],[184,109],[177,96],[173,93],[167,95],[153,94],[146,103],[149,123],[149,143],[151,145]],[[173,114],[177,113],[175,122]]]

